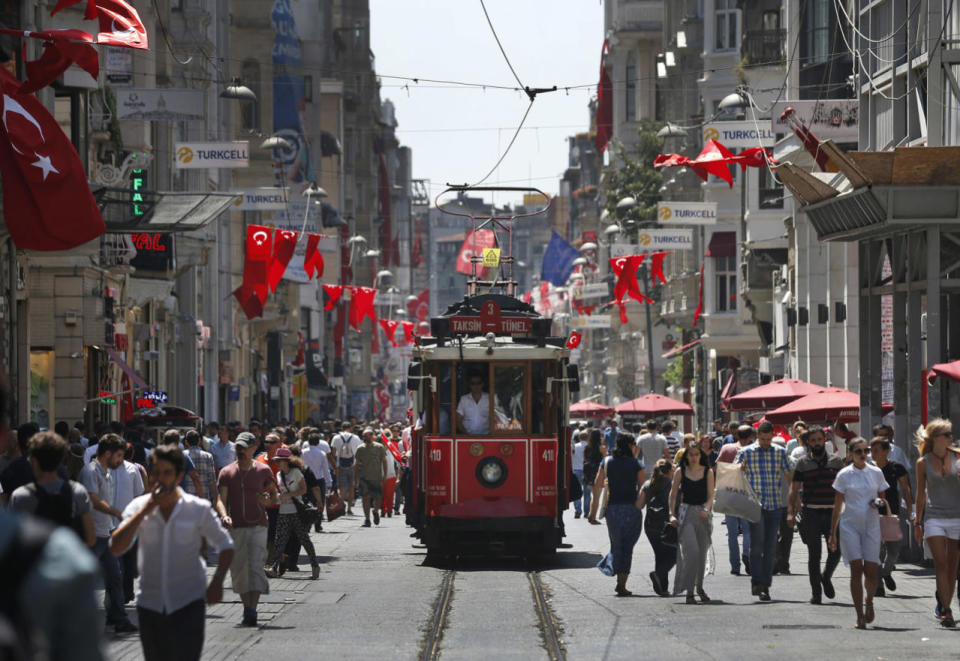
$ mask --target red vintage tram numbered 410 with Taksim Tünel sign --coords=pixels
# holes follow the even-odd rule
[[[473,218],[474,229],[509,236],[517,217]],[[481,259],[464,299],[431,319],[410,366],[410,521],[430,554],[552,554],[568,503],[577,369],[552,321],[516,298],[512,256],[488,280],[476,275]]]

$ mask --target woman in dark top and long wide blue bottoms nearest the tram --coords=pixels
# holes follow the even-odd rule
[[[638,502],[640,485],[646,479],[643,462],[634,455],[636,441],[630,434],[619,434],[613,456],[603,463],[597,472],[595,484],[603,486],[607,481],[610,501],[607,503],[607,534],[610,536],[610,553],[601,560],[600,566],[612,569],[617,577],[618,597],[632,594],[627,590],[627,577],[633,562],[633,547],[640,539],[643,529],[643,512]]]

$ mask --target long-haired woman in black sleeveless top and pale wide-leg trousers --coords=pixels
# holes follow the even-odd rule
[[[710,597],[703,590],[703,575],[713,530],[710,520],[713,513],[713,471],[696,437],[684,448],[683,456],[677,462],[669,504],[670,524],[678,529],[677,539],[680,542],[680,563],[673,593],[685,591],[687,603],[695,604],[697,600],[693,592],[696,590],[701,603],[708,603]]]

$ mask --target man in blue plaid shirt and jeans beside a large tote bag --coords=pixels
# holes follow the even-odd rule
[[[760,499],[760,520],[750,523],[750,577],[752,593],[770,601],[773,563],[777,553],[777,532],[783,514],[784,485],[790,483],[791,467],[785,448],[773,444],[773,424],[761,422],[757,442],[740,451],[735,463]]]

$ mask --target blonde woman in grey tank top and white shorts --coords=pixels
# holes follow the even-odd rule
[[[920,458],[917,460],[917,518],[914,536],[926,541],[933,555],[937,575],[937,606],[940,624],[956,622],[953,602],[960,557],[960,458],[950,450],[953,425],[949,420],[931,420],[917,432]]]

